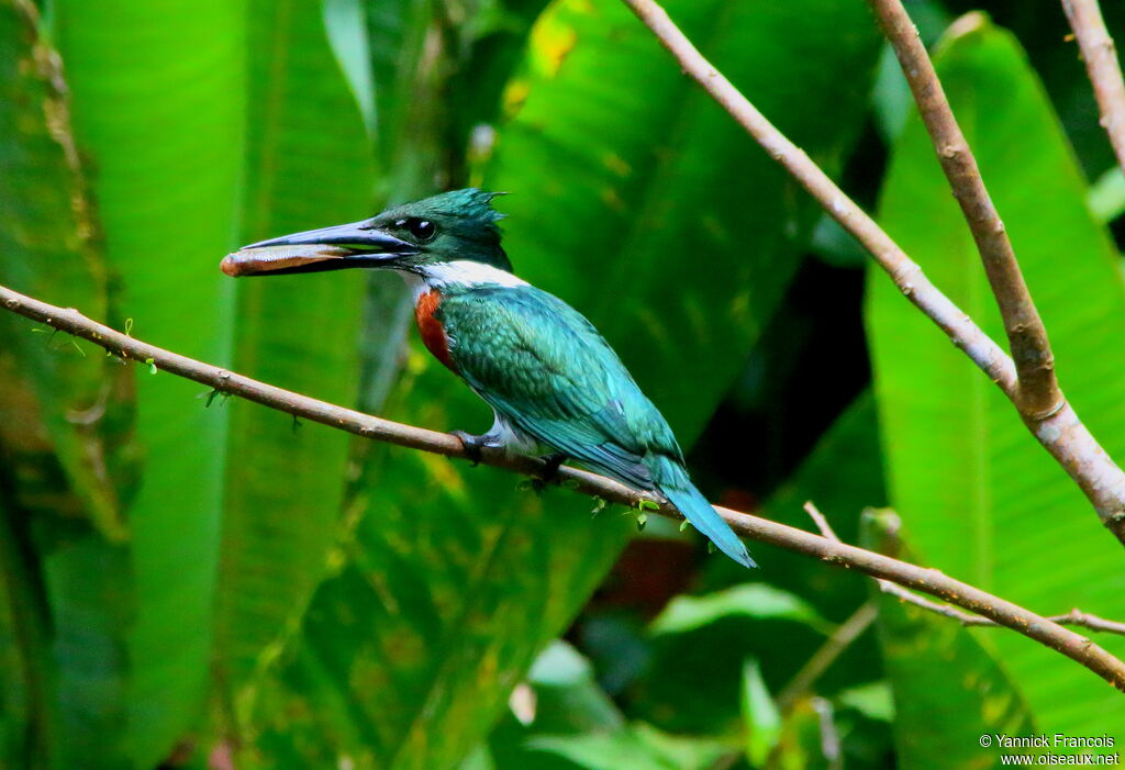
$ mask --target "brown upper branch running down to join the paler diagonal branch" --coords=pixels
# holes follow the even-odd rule
[[[1028,419],[1038,422],[1050,417],[1062,408],[1063,397],[1055,380],[1047,332],[1032,301],[1008,232],[984,187],[976,157],[953,116],[942,81],[906,8],[899,0],[870,2],[910,83],[942,171],[965,215],[992,295],[1000,306],[1004,330],[1016,363],[1016,406]],[[966,26],[965,20],[971,24],[981,18],[970,15],[958,24]]]

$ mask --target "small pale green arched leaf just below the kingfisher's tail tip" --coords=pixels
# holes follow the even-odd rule
[[[654,634],[682,634],[723,617],[804,623],[821,633],[831,625],[804,599],[765,583],[744,583],[703,596],[677,596],[652,620]]]

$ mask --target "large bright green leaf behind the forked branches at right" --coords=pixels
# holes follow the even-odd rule
[[[1125,295],[1115,250],[1016,40],[963,19],[935,63],[1051,335],[1062,387],[1094,435],[1125,458]],[[980,259],[929,138],[912,116],[894,147],[880,218],[933,281],[1004,339]],[[1125,616],[1120,546],[992,383],[872,274],[867,325],[891,500],[943,571],[1045,615]],[[1109,731],[1125,700],[1062,655],[975,631],[1047,732]],[[1098,640],[1125,653],[1125,640]]]

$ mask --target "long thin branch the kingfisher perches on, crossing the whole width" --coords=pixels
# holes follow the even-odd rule
[[[116,332],[104,324],[87,318],[73,308],[47,305],[6,287],[0,287],[0,305],[32,320],[88,339],[123,359],[142,362],[150,366],[154,365],[160,370],[214,388],[222,393],[232,393],[272,409],[376,441],[443,454],[449,458],[466,458],[461,442],[449,434],[403,425],[325,404],[307,396],[252,380],[226,369],[194,361]],[[484,450],[482,462],[531,475],[538,474],[543,469],[543,463],[540,460],[508,456],[502,450]],[[610,502],[629,506],[638,506],[642,500],[650,500],[654,495],[652,492],[630,489],[596,473],[566,466],[559,469],[554,482],[573,487],[583,493],[596,496]],[[749,514],[720,507],[716,507],[716,510],[740,535],[803,553],[843,569],[854,569],[873,578],[892,580],[992,618],[1002,626],[1061,652],[1090,669],[1114,687],[1125,691],[1125,663],[1090,640],[1010,601],[958,580],[953,580],[937,570],[922,569]],[[680,518],[675,508],[666,502],[662,504],[659,513]]]

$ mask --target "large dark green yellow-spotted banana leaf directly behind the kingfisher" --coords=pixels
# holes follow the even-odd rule
[[[864,82],[876,53],[862,8],[712,0],[669,10],[834,165],[863,93],[834,83],[840,72]],[[792,275],[811,207],[616,3],[548,10],[508,94],[486,182],[519,193],[502,203],[518,271],[587,312],[690,441]],[[832,101],[830,130],[810,100]],[[487,411],[412,350],[389,415],[483,429]],[[591,520],[590,501],[565,491],[537,499],[513,493],[508,474],[464,468],[376,451],[339,572],[263,695],[282,706],[258,742],[269,764],[454,764],[631,526]]]

